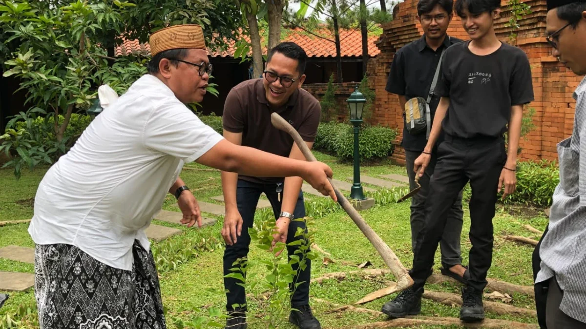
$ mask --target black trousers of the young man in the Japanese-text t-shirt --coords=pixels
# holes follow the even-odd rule
[[[469,285],[486,287],[486,273],[492,264],[493,226],[500,173],[506,162],[505,140],[461,139],[446,136],[438,147],[438,162],[430,181],[425,227],[417,237],[413,259],[414,289],[423,287],[434,264],[435,251],[445,231],[448,213],[468,181],[470,200]]]

